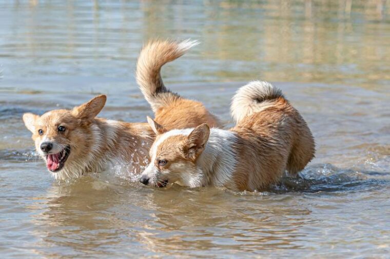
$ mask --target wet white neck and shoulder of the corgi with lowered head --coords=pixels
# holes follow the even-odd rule
[[[197,173],[188,179],[191,187],[214,185],[225,186],[231,179],[237,164],[233,145],[237,136],[230,131],[211,128],[210,136],[197,160]]]

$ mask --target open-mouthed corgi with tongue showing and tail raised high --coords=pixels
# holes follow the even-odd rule
[[[165,88],[162,66],[182,56],[197,41],[155,40],[146,44],[136,65],[136,81],[151,105],[155,121],[165,128],[220,126],[202,103],[188,100]],[[148,161],[155,134],[148,123],[126,123],[96,118],[106,103],[100,95],[72,110],[54,110],[38,116],[23,115],[38,154],[55,179],[77,178],[112,165],[127,165],[140,173]]]

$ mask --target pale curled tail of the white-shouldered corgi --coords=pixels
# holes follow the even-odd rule
[[[280,89],[265,81],[252,81],[241,87],[233,96],[230,112],[236,123],[252,113],[272,106],[272,101],[282,97]]]

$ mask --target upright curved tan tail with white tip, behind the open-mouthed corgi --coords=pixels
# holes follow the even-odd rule
[[[187,50],[198,44],[198,41],[190,39],[181,42],[152,40],[142,48],[137,60],[136,81],[153,112],[179,98],[178,94],[165,88],[160,75],[161,67],[181,57]]]

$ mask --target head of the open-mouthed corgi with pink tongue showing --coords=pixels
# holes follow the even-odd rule
[[[53,110],[42,116],[23,115],[35,148],[49,171],[56,174],[70,169],[68,164],[80,163],[88,156],[93,141],[90,124],[105,103],[106,96],[100,95],[72,110]]]

